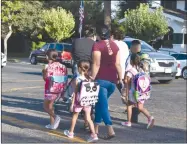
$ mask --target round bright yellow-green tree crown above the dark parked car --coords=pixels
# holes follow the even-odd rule
[[[43,26],[48,35],[60,42],[72,36],[75,26],[74,17],[71,12],[58,7],[43,11]]]

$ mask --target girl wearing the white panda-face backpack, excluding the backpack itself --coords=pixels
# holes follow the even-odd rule
[[[98,137],[97,137],[97,134],[95,133],[94,124],[91,119],[91,108],[92,107],[91,106],[81,106],[79,104],[79,102],[77,101],[77,97],[79,96],[78,94],[79,94],[79,88],[80,88],[81,82],[90,80],[90,77],[88,76],[89,69],[90,69],[89,61],[85,61],[85,60],[79,61],[79,63],[78,63],[79,75],[76,77],[76,80],[74,81],[75,82],[75,91],[74,91],[74,96],[73,96],[72,104],[71,104],[71,108],[70,108],[71,111],[73,112],[71,127],[69,130],[65,130],[64,134],[69,138],[74,137],[74,128],[76,125],[76,121],[78,119],[79,113],[82,110],[84,110],[86,121],[88,122],[89,127],[90,127],[90,131],[91,131],[90,138],[87,141],[93,142],[93,141],[97,141]]]

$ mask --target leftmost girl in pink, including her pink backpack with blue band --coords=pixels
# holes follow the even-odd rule
[[[50,116],[50,124],[47,129],[57,129],[60,123],[60,117],[55,115],[53,104],[55,99],[61,94],[67,82],[67,68],[57,62],[58,52],[54,49],[47,51],[48,64],[42,70],[45,81],[44,110]]]

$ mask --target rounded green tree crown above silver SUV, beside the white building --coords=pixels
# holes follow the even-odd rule
[[[140,7],[135,10],[127,10],[125,18],[126,20],[122,23],[125,34],[147,42],[169,31],[161,7],[150,11],[148,4],[140,4]]]

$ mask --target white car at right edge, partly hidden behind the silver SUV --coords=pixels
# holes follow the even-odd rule
[[[187,53],[172,54],[171,56],[175,57],[177,61],[180,61],[181,76],[187,79]]]

